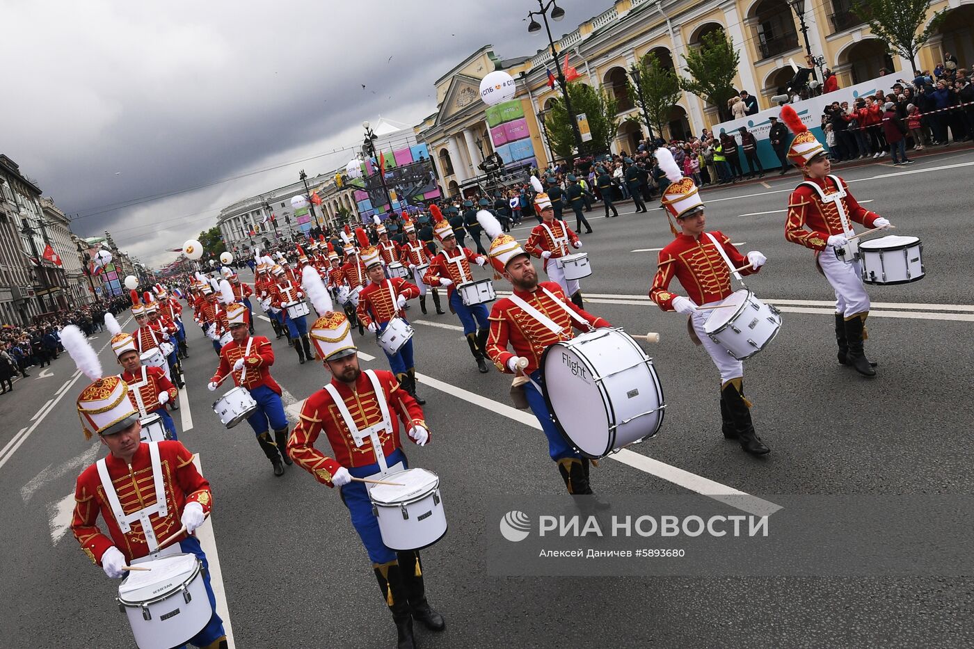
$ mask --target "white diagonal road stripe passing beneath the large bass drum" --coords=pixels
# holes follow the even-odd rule
[[[424,385],[430,386],[434,390],[439,390],[440,392],[468,401],[468,403],[473,403],[491,412],[496,412],[499,415],[520,422],[535,430],[542,430],[538,418],[529,410],[518,410],[506,403],[487,399],[486,397],[468,392],[463,388],[450,385],[449,383],[419,372],[416,373],[416,380]],[[748,514],[770,515],[781,509],[778,505],[758,498],[757,496],[752,496],[726,484],[721,484],[706,477],[697,476],[689,471],[684,471],[678,467],[673,467],[625,448],[607,457],[644,473],[659,477],[667,482],[672,482],[673,484],[690,489],[700,495],[719,500]]]

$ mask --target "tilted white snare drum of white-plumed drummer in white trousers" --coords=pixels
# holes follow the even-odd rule
[[[749,359],[768,347],[781,328],[781,312],[765,304],[747,288],[739,288],[713,309],[703,325],[710,339],[738,361]]]

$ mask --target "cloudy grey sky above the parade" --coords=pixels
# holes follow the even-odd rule
[[[555,38],[611,2],[559,5]],[[419,123],[435,110],[433,82],[482,45],[534,55],[546,38],[527,33],[529,9],[0,0],[0,153],[80,215],[78,234],[107,229],[163,265],[221,208],[343,165],[351,150],[326,154],[356,145],[362,120]]]

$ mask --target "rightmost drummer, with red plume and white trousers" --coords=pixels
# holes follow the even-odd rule
[[[785,239],[815,251],[818,270],[836,293],[839,363],[852,365],[863,376],[876,376],[876,363],[866,358],[863,345],[870,301],[862,283],[862,267],[855,254],[843,247],[852,236],[853,222],[880,228],[887,227],[889,220],[859,205],[845,181],[829,173],[832,163],[825,148],[794,108],[783,106],[781,120],[795,134],[788,158],[805,174],[788,198]]]

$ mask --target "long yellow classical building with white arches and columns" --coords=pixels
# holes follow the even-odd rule
[[[801,64],[805,57],[805,37],[793,7],[804,11],[812,55],[825,58],[841,87],[877,77],[881,68],[902,70],[904,78],[912,77],[914,63],[888,56],[885,43],[851,11],[850,0],[617,0],[562,36],[555,48],[560,63],[569,57],[581,83],[602,87],[615,96],[619,127],[612,149],[632,151],[644,136],[637,122],[626,120],[638,119],[637,107],[626,90],[627,69],[636,60],[654,52],[662,65],[685,75],[682,68],[687,52],[699,47],[708,33],[724,31],[740,53],[735,88],[757,96],[759,106],[768,108],[771,96],[779,94],[781,86],[794,76],[790,61]],[[937,0],[930,4],[928,17],[945,8],[950,13],[940,33],[919,52],[922,69],[932,70],[947,52],[961,65],[974,62],[974,0]],[[506,70],[517,83],[514,99],[521,103],[534,159],[542,167],[550,160],[543,137],[543,112],[551,99],[560,96],[560,90],[557,85],[547,85],[547,72],[555,68],[543,33],[524,34],[542,47],[533,57],[505,59],[488,45],[435,81],[436,112],[415,129],[430,147],[447,194],[457,195],[465,183],[469,185],[480,173],[478,159],[493,150],[490,134],[496,127],[479,99],[479,83],[497,69]],[[684,93],[672,107],[662,135],[699,134],[719,121],[716,106]],[[505,152],[501,153],[504,157]]]

